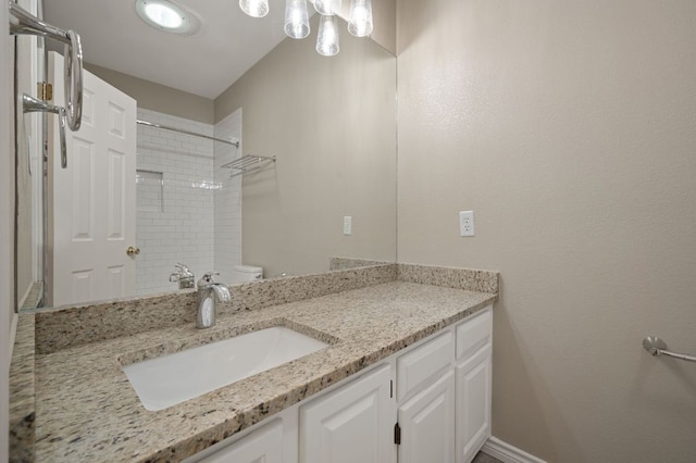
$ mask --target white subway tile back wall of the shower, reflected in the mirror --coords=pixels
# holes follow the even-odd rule
[[[213,135],[211,124],[156,111],[138,109],[138,118]],[[240,137],[240,129],[238,134],[237,137]],[[232,240],[229,237],[237,232],[227,232],[220,227],[219,230],[215,229],[215,192],[223,185],[215,182],[213,173],[213,141],[138,125],[137,168],[141,171],[141,175],[142,171],[150,173],[144,175],[147,180],[142,180],[144,188],[137,189],[136,199],[136,240],[140,248],[136,265],[137,293],[149,295],[177,289],[175,283],[169,281],[177,262],[188,265],[197,278],[204,272],[216,270],[215,233]],[[161,175],[159,208],[156,207],[158,198],[153,191],[157,174]],[[145,185],[148,185],[148,188],[145,188]],[[224,201],[220,202],[221,208],[223,203]],[[234,207],[239,211],[229,212],[228,215],[240,220],[240,199],[229,208]],[[225,203],[223,209],[226,211],[229,208]],[[221,226],[222,224],[227,226],[229,221],[221,222]],[[234,227],[240,235],[240,223]],[[235,237],[234,240],[240,243],[241,237]],[[238,253],[241,253],[240,249]],[[219,261],[224,262],[225,258]]]

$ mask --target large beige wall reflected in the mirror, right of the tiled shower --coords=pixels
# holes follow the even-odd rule
[[[266,276],[396,259],[396,60],[347,33],[334,58],[314,41],[284,40],[215,100],[216,121],[243,109],[244,154],[277,157],[243,184],[243,260]]]

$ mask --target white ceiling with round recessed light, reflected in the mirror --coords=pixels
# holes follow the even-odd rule
[[[262,18],[247,16],[237,0],[174,2],[198,14],[196,34],[148,26],[136,14],[135,0],[45,1],[44,18],[78,33],[88,63],[210,99],[285,38],[283,0],[270,0]]]

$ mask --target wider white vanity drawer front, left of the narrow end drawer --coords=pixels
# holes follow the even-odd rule
[[[448,330],[399,356],[396,360],[397,400],[402,400],[449,367],[453,351],[452,331]]]

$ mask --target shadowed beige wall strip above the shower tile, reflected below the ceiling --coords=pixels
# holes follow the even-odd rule
[[[213,123],[213,100],[95,64],[85,63],[85,68],[137,100],[138,108]]]

